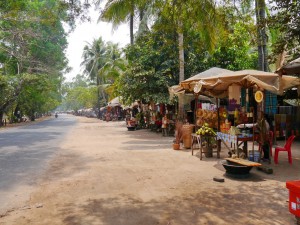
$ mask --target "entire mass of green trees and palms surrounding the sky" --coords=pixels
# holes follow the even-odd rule
[[[264,69],[283,51],[299,57],[298,1],[109,0],[99,19],[115,26],[129,21],[131,44],[120,49],[104,42],[100,33],[83,49],[80,76],[88,82],[63,85],[63,74],[70,69],[64,28],[68,24],[72,30],[76,20],[88,20],[91,4],[99,9],[103,2],[0,2],[1,118],[17,109],[32,115],[53,110],[62,98],[79,95],[88,104],[82,100],[76,108],[99,108],[120,95],[127,103],[168,102],[168,87],[179,83],[183,71],[186,79],[213,66],[256,69],[262,61],[260,47],[270,55]]]

